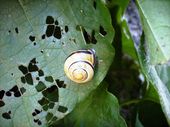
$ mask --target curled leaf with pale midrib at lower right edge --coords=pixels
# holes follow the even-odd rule
[[[149,55],[146,52],[147,47],[144,42],[142,36],[141,45],[138,50],[139,62],[146,78],[151,82],[158,93],[162,110],[168,124],[170,125],[170,82],[168,77],[170,75],[170,65],[169,63],[163,65],[151,65],[148,58]],[[155,100],[157,101],[157,99]]]

